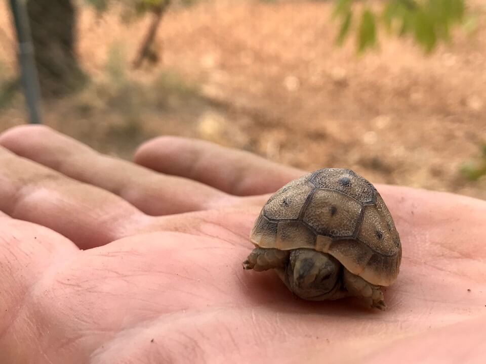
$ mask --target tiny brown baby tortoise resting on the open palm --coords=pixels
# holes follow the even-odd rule
[[[375,187],[354,171],[319,169],[293,180],[263,206],[245,269],[274,268],[307,300],[355,296],[385,310],[381,290],[398,276],[401,243]]]

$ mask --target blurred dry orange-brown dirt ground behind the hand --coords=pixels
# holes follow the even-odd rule
[[[4,7],[0,48],[12,52],[0,66],[12,72]],[[329,2],[304,1],[173,8],[159,28],[159,62],[131,70],[124,60],[150,19],[127,25],[116,11],[97,17],[83,7],[77,52],[95,81],[45,105],[45,123],[124,158],[143,140],[176,134],[306,169],[347,167],[374,183],[486,199],[486,179],[460,173],[486,141],[484,21],[429,57],[384,32],[379,51],[356,57],[352,39],[335,47],[331,11]],[[17,98],[2,110],[0,130],[23,122]]]

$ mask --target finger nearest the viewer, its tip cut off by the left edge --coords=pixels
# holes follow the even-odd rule
[[[0,210],[47,226],[81,248],[126,236],[149,216],[105,190],[0,148]]]

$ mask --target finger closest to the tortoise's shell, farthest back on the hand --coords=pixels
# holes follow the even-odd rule
[[[249,152],[176,136],[161,136],[143,144],[134,160],[153,170],[197,180],[237,196],[275,192],[306,173]]]

